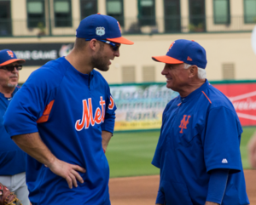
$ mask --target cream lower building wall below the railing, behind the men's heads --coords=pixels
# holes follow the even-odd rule
[[[122,83],[121,68],[134,65],[136,67],[136,82],[143,83],[143,66],[154,65],[156,82],[165,82],[160,71],[164,64],[151,60],[154,55],[164,55],[170,44],[179,38],[195,40],[207,50],[207,78],[223,80],[222,65],[233,63],[236,68],[236,80],[256,79],[256,56],[251,46],[251,33],[221,33],[221,34],[183,34],[183,35],[137,35],[125,36],[134,45],[122,45],[120,57],[115,58],[107,72],[102,72],[108,83]],[[73,43],[75,37],[41,37],[41,38],[0,38],[0,43]],[[36,67],[25,67],[20,71],[20,83],[26,81]]]

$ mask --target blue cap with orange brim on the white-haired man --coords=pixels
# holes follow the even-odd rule
[[[207,66],[207,53],[199,43],[184,39],[172,42],[166,55],[153,56],[153,60],[167,64],[197,65],[205,69]]]

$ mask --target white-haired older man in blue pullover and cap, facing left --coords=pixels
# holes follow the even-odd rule
[[[174,41],[166,55],[166,105],[152,164],[160,168],[156,204],[249,204],[241,165],[241,123],[224,94],[206,79],[207,55],[194,41]]]

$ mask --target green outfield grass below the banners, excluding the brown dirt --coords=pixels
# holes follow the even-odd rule
[[[240,146],[243,168],[250,168],[247,142],[255,131],[256,127],[243,128]],[[151,164],[159,135],[160,131],[113,134],[106,153],[110,177],[159,174],[159,169]]]

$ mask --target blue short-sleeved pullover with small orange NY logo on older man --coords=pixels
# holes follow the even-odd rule
[[[230,169],[222,205],[248,204],[241,165],[241,123],[224,94],[206,81],[166,105],[153,164],[166,205],[204,205],[210,172]]]

